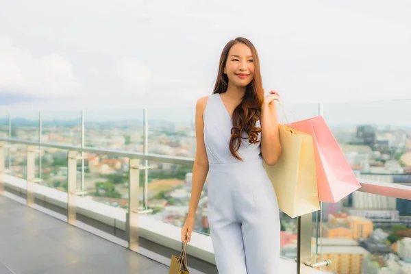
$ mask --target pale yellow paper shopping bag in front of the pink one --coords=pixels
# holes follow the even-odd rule
[[[320,210],[312,136],[280,125],[282,155],[277,164],[264,163],[279,209],[295,218]]]

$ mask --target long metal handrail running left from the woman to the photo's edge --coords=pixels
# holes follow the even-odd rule
[[[113,149],[96,149],[94,147],[76,147],[74,145],[60,145],[60,144],[55,144],[55,143],[20,140],[20,139],[15,139],[15,138],[0,138],[0,142],[9,142],[9,143],[18,144],[18,145],[33,145],[37,147],[51,147],[53,149],[62,149],[62,150],[67,150],[67,151],[78,151],[78,152],[87,152],[87,153],[95,153],[95,154],[113,155],[113,156],[126,157],[126,158],[139,159],[139,160],[149,160],[153,162],[165,162],[169,164],[192,165],[194,162],[194,158],[188,158],[188,157],[177,157],[177,156],[159,155],[159,154],[151,154],[151,153],[145,154],[145,153],[140,153],[140,152],[119,151],[119,150],[113,150]]]

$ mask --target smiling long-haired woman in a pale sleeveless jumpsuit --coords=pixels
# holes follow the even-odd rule
[[[260,62],[245,38],[221,53],[213,95],[196,104],[197,152],[182,241],[189,242],[206,176],[208,221],[220,274],[277,274],[279,210],[263,167],[281,155],[277,92],[264,97]]]

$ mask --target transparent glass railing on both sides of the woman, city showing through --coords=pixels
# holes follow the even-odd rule
[[[384,190],[401,185],[404,190],[411,191],[411,173],[408,173],[411,172],[411,154],[408,152],[411,150],[411,122],[405,119],[405,114],[410,112],[410,105],[411,101],[283,104],[290,122],[323,114],[360,182],[386,182],[388,185],[383,186]],[[7,142],[10,134],[14,138],[13,142],[8,142],[10,148],[5,149],[5,166],[11,163],[9,175],[20,178],[27,175],[27,145],[16,139],[38,142],[40,127],[41,142],[47,146],[40,147],[38,151],[40,157],[36,160],[36,169],[41,172],[36,173],[36,177],[42,180],[37,180],[36,184],[67,192],[67,153],[74,149],[70,146],[77,147],[74,149],[79,151],[74,173],[77,199],[119,210],[113,214],[118,221],[125,222],[130,206],[129,160],[134,158],[140,167],[135,197],[138,206],[135,211],[144,215],[142,220],[145,222],[158,221],[179,231],[190,199],[192,158],[195,155],[194,109],[119,110],[60,115],[0,114],[0,139]],[[284,115],[282,117],[285,120]],[[19,121],[20,124],[13,121]],[[10,154],[7,153],[9,150]],[[174,158],[186,162],[182,164],[170,160]],[[375,266],[375,262],[380,267],[392,265],[390,260],[384,261],[376,255],[386,254],[381,251],[383,248],[380,243],[383,242],[391,248],[389,254],[397,256],[393,260],[398,258],[399,264],[406,267],[408,259],[399,255],[397,246],[406,245],[403,239],[411,237],[411,234],[406,234],[408,227],[411,227],[411,201],[408,200],[411,196],[398,199],[392,197],[390,191],[379,193],[386,196],[376,195],[373,191],[357,191],[338,203],[322,203],[321,211],[310,214],[309,218],[306,216],[306,220],[310,219],[309,227],[312,230],[309,241],[307,238],[300,239],[311,243],[311,258],[306,260],[319,262],[320,265],[330,260],[332,263],[329,266],[320,268],[333,273],[371,273],[364,271],[369,271],[367,267]],[[301,252],[297,235],[301,222],[282,212],[280,218],[282,256],[295,260]],[[394,230],[400,234],[394,236]],[[207,184],[201,195],[195,232],[201,235],[199,238],[210,234]],[[380,234],[386,235],[385,238]],[[307,232],[304,235],[308,235]],[[378,238],[379,243],[373,244],[381,247],[381,250],[375,251],[371,243],[364,243],[366,240],[375,240],[375,235],[384,238]],[[210,247],[210,242],[204,244],[200,240],[193,240],[192,244],[197,245],[196,248],[201,245]]]

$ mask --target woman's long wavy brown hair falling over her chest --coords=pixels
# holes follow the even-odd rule
[[[247,138],[251,144],[258,141],[258,133],[261,132],[260,127],[256,127],[256,122],[261,118],[261,108],[264,101],[264,89],[262,88],[262,77],[260,72],[260,59],[256,47],[246,38],[238,37],[230,40],[225,45],[220,57],[219,73],[216,78],[213,94],[224,93],[228,88],[228,77],[224,73],[225,64],[227,62],[229,50],[236,44],[245,44],[253,54],[253,63],[255,66],[254,77],[250,84],[246,87],[245,95],[241,103],[234,109],[232,116],[231,138],[229,140],[229,151],[238,160],[242,160],[238,155],[240,149],[242,132],[247,133]]]

